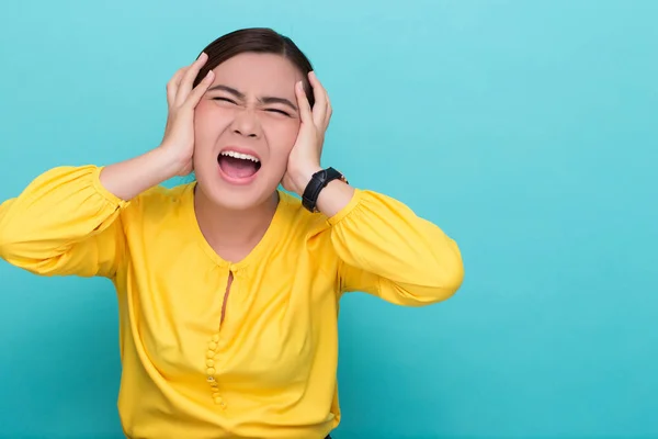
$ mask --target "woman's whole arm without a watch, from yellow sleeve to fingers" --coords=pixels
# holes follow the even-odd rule
[[[107,167],[60,167],[0,205],[0,258],[44,275],[112,277],[125,251],[121,211],[171,177],[192,170],[194,109],[213,80],[194,78],[204,54],[167,85],[162,144]]]

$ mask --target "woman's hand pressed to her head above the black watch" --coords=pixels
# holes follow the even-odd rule
[[[299,196],[304,193],[313,175],[321,169],[320,156],[322,155],[325,133],[331,120],[331,103],[327,90],[315,72],[308,74],[308,79],[313,87],[315,104],[311,110],[302,81],[297,82],[295,94],[302,124],[281,181],[286,191],[295,192]]]

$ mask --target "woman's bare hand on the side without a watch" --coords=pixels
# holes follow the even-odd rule
[[[159,148],[173,161],[177,176],[184,177],[193,170],[194,109],[213,83],[213,70],[195,88],[192,87],[207,59],[207,54],[202,53],[190,66],[177,71],[167,83],[169,114]]]

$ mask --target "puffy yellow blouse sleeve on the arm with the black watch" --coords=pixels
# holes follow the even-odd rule
[[[420,306],[452,296],[462,284],[464,267],[455,241],[397,200],[356,190],[328,221],[341,261],[341,292]]]

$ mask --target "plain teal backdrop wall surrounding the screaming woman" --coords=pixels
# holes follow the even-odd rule
[[[3,1],[0,199],[158,144],[164,83],[265,25],[325,162],[461,245],[452,300],[342,302],[347,438],[658,437],[658,2]],[[0,437],[120,438],[114,292],[0,263]]]

